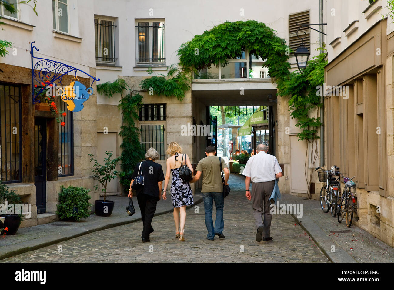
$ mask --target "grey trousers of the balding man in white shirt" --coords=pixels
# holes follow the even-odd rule
[[[269,212],[271,204],[269,197],[275,187],[275,180],[266,182],[256,182],[252,184],[252,206],[253,217],[255,218],[256,228],[263,226],[263,237],[269,237],[272,215]],[[262,215],[264,214],[264,220]]]

